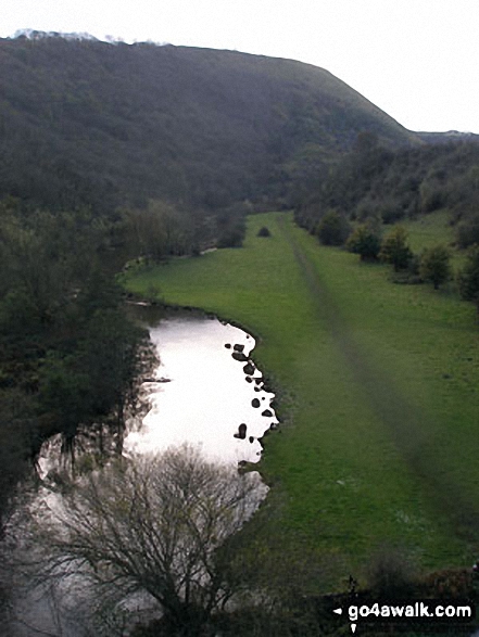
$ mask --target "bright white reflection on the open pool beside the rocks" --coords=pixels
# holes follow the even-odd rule
[[[254,339],[199,315],[165,318],[150,327],[150,335],[161,359],[151,379],[157,382],[148,383],[152,409],[140,430],[126,436],[125,450],[188,442],[212,460],[260,460],[259,438],[278,421],[274,394],[248,361]]]

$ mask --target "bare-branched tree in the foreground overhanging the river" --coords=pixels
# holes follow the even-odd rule
[[[190,447],[92,472],[36,512],[43,574],[65,581],[80,573],[112,608],[149,598],[166,634],[203,634],[235,593],[218,549],[263,497],[254,477]]]

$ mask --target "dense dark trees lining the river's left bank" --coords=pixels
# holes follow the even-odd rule
[[[0,518],[45,439],[60,433],[73,453],[101,426],[121,445],[139,407],[151,353],[110,273],[113,235],[90,211],[0,203]]]

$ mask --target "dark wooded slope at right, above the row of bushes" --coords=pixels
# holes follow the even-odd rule
[[[478,138],[444,139],[394,149],[370,133],[358,136],[329,175],[303,189],[297,220],[311,229],[328,208],[338,207],[352,219],[380,217],[393,224],[446,207],[457,225],[458,244],[470,245],[479,238]]]

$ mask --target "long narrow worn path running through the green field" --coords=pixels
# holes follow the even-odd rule
[[[413,407],[394,385],[388,370],[378,369],[367,352],[361,349],[315,264],[285,218],[279,220],[279,226],[307,283],[318,319],[332,335],[338,353],[405,459],[426,500],[431,502],[452,535],[477,547],[479,502],[468,497],[434,456],[430,444],[437,435],[434,422]]]

